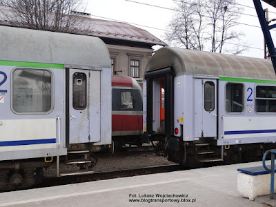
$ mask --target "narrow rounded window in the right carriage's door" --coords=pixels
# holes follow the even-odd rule
[[[204,84],[204,109],[213,111],[215,109],[215,83],[206,81]]]

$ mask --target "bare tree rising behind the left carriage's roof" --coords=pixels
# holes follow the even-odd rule
[[[80,29],[74,11],[84,10],[83,0],[0,0],[1,12],[13,26],[55,32]]]

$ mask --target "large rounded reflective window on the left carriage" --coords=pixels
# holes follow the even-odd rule
[[[12,80],[14,112],[49,112],[52,109],[52,73],[49,70],[17,69]]]

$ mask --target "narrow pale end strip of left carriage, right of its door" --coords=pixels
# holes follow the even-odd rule
[[[95,142],[93,145],[111,144],[111,117],[112,117],[112,88],[111,88],[111,70],[110,68],[102,68],[101,70],[101,125],[97,126],[101,129],[101,141]]]

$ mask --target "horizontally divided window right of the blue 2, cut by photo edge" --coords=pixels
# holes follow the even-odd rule
[[[276,87],[257,86],[255,98],[256,112],[276,112]]]

